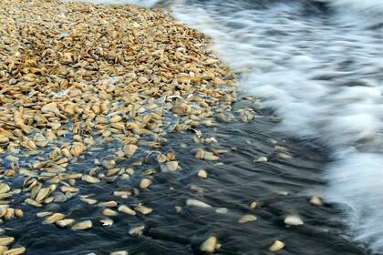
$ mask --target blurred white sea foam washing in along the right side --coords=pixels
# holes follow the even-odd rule
[[[241,89],[283,118],[278,131],[331,148],[326,199],[344,205],[356,240],[383,251],[383,39],[381,30],[367,28],[376,17],[366,15],[383,4],[327,2],[336,14],[306,15],[296,3],[257,9],[218,0],[179,2],[173,13],[212,37],[240,73]]]

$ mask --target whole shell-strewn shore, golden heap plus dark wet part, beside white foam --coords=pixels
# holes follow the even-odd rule
[[[42,69],[38,61],[28,62],[28,66],[14,61],[15,69],[17,65],[23,66],[23,75],[11,75],[22,80],[23,84],[19,85],[22,91],[27,87],[46,90],[29,98],[20,96],[19,101],[17,93],[10,94],[16,104],[2,102],[2,107],[12,104],[8,105],[6,115],[12,118],[0,122],[3,130],[11,129],[13,133],[6,136],[3,131],[1,140],[2,182],[7,183],[10,190],[6,190],[6,186],[1,189],[6,190],[0,194],[5,198],[1,209],[5,209],[6,216],[3,215],[0,228],[4,228],[4,236],[15,238],[15,244],[8,245],[8,249],[26,247],[27,254],[112,254],[117,251],[119,253],[114,254],[126,254],[125,251],[129,254],[199,254],[204,241],[214,237],[216,243],[210,243],[208,249],[219,254],[254,254],[254,250],[270,254],[268,250],[275,240],[285,242],[282,250],[285,254],[304,254],[307,247],[326,250],[326,254],[337,254],[339,250],[346,250],[345,254],[364,254],[355,244],[339,236],[337,231],[343,226],[340,217],[333,215],[339,214],[337,209],[326,204],[313,206],[310,198],[300,193],[313,184],[321,184],[318,176],[324,156],[316,156],[316,148],[306,151],[300,142],[274,138],[269,131],[274,119],[254,106],[254,97],[246,99],[240,95],[236,100],[233,74],[209,53],[205,47],[209,42],[201,33],[174,24],[171,17],[158,10],[58,3],[49,1],[46,6],[51,5],[51,10],[68,8],[71,14],[42,12],[43,16],[47,13],[57,16],[62,26],[55,28],[57,31],[52,34],[49,34],[52,27],[48,27],[48,36],[44,33],[39,36],[49,38],[42,40],[50,43],[47,49],[55,45],[52,42],[62,43],[59,49],[63,54],[55,55],[59,50],[45,53],[39,47],[39,38],[30,40],[36,43],[33,53],[51,55],[43,56],[41,61],[51,69],[36,70]],[[129,46],[123,49],[132,50],[131,55],[119,56],[119,50],[114,55],[101,54],[96,51],[97,46],[89,44],[92,36],[84,32],[87,30],[81,30],[87,28],[84,21],[88,15],[96,17],[90,27],[98,30],[101,26],[107,38],[121,42],[122,46],[127,42],[137,46],[143,44],[142,40],[156,42],[159,36],[170,31],[166,35],[167,46],[163,52]],[[130,30],[123,30],[124,24],[118,24],[116,16],[132,20]],[[63,29],[71,27],[65,23],[72,18],[79,26],[75,36]],[[103,24],[102,20],[108,23]],[[165,27],[161,30],[157,26],[163,21]],[[56,23],[46,20],[43,24],[46,22]],[[19,20],[16,23],[18,27],[23,24],[20,25]],[[28,27],[38,31],[41,25],[38,23],[41,22],[32,21],[36,26]],[[126,36],[128,41],[108,31],[113,24],[130,35]],[[148,33],[156,29],[162,33],[155,34],[151,41]],[[97,35],[93,30],[90,32]],[[84,33],[87,36],[81,36]],[[197,36],[192,40],[201,46],[185,46],[192,36]],[[104,52],[113,49],[113,44],[102,36],[92,41],[98,42],[107,45],[103,46]],[[169,48],[168,44],[171,44]],[[65,54],[70,53],[71,47],[77,48],[76,45],[78,49],[90,48],[86,57]],[[26,48],[28,46],[26,44]],[[92,50],[98,58],[89,57]],[[192,56],[188,56],[190,52]],[[46,62],[57,56],[58,63],[63,61],[58,67],[57,62],[55,65]],[[173,76],[156,80],[147,73],[152,67],[147,63],[150,56],[159,66],[167,65],[162,73],[170,71]],[[100,61],[106,69],[104,76],[93,77],[103,68],[86,68],[85,72],[69,70],[92,66],[102,57],[106,59]],[[177,62],[179,57],[181,60]],[[81,62],[84,59],[91,59],[90,63]],[[188,61],[195,65],[187,66]],[[130,62],[134,65],[129,65]],[[9,71],[12,63],[7,64],[7,72],[14,70]],[[140,66],[142,63],[148,64],[146,68]],[[65,71],[60,66],[69,71],[65,75],[55,74]],[[115,66],[117,71],[113,70]],[[191,72],[199,76],[180,74],[181,68],[192,69]],[[31,73],[34,76],[27,76]],[[66,80],[69,81],[66,83]],[[1,80],[0,84],[5,81],[10,79]],[[47,81],[58,85],[46,88]],[[81,84],[81,81],[86,87],[74,85],[71,89],[71,83]],[[9,89],[17,86],[14,82],[1,87],[2,96],[7,95],[7,91],[13,92]],[[159,87],[162,91],[152,89]],[[167,96],[162,99],[161,95]],[[151,97],[158,98],[151,100]],[[52,101],[54,103],[49,104]],[[109,104],[103,104],[105,101]],[[27,107],[20,113],[19,106],[23,105]],[[44,122],[40,116],[48,121]],[[39,132],[46,129],[44,127],[56,130]],[[18,146],[10,146],[17,141]],[[19,148],[22,149],[18,151]],[[15,215],[22,217],[16,219]],[[286,227],[284,219],[288,215],[299,215],[305,225]],[[76,225],[78,223],[82,225]],[[78,230],[72,230],[73,225]],[[306,240],[307,235],[312,238]],[[66,251],[67,246],[71,250]]]

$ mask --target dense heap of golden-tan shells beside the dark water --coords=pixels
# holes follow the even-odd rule
[[[2,221],[23,217],[9,206],[16,194],[44,208],[76,196],[77,180],[96,184],[133,174],[132,168],[115,168],[114,160],[97,162],[106,169],[101,174],[97,168],[67,172],[88,148],[119,140],[118,158],[129,158],[148,136],[150,146],[160,148],[167,132],[212,126],[213,113],[222,114],[235,100],[233,74],[206,48],[208,39],[158,10],[4,0],[0,18],[5,21],[0,23]],[[36,155],[41,157],[25,163]],[[218,159],[203,150],[197,157]],[[174,155],[160,155],[158,161],[163,172],[179,168]],[[17,182],[23,186],[15,187],[13,179],[23,179]],[[150,184],[142,179],[140,189]],[[114,195],[128,198],[131,192]],[[87,195],[81,200],[105,208],[105,216],[151,212],[144,205],[131,209]],[[59,212],[41,211],[37,217],[62,228],[92,228],[90,220],[75,222]],[[2,254],[25,252],[5,251],[13,241],[0,238]]]

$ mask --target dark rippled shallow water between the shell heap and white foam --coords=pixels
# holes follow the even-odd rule
[[[199,246],[210,235],[215,235],[222,248],[217,254],[271,254],[268,251],[274,240],[283,240],[285,249],[278,254],[367,254],[355,244],[342,237],[343,226],[339,210],[326,204],[314,207],[308,201],[306,190],[322,186],[321,168],[326,161],[326,151],[308,142],[299,142],[275,135],[277,120],[271,112],[254,107],[252,101],[242,100],[236,109],[251,107],[259,115],[250,123],[235,117],[233,122],[216,128],[202,128],[203,138],[216,138],[211,145],[193,142],[194,133],[171,133],[161,152],[176,153],[181,170],[175,173],[160,173],[158,163],[148,158],[149,150],[140,146],[134,158],[118,162],[116,167],[132,167],[135,174],[128,180],[116,179],[87,185],[78,180],[81,191],[71,200],[47,205],[45,210],[64,213],[67,218],[91,219],[92,230],[73,231],[55,225],[42,225],[36,219],[37,209],[23,206],[25,217],[6,221],[3,225],[7,235],[16,238],[16,245],[26,246],[28,254],[109,254],[114,250],[129,250],[129,254],[199,254]],[[275,144],[276,142],[276,144]],[[277,156],[274,146],[286,148],[293,158]],[[231,148],[236,147],[237,150]],[[110,158],[115,145],[91,148],[91,152],[72,163],[67,172],[88,172],[95,167],[95,158]],[[204,148],[213,151],[224,149],[219,161],[204,161],[194,157],[195,150]],[[267,156],[265,163],[254,162],[255,158]],[[136,166],[143,161],[141,166]],[[136,163],[135,163],[136,162]],[[150,189],[129,199],[112,195],[114,190],[132,190],[139,186],[144,171],[153,168]],[[199,169],[206,169],[208,179],[197,177]],[[101,169],[101,172],[105,171]],[[282,195],[281,192],[288,192]],[[134,207],[143,203],[154,211],[149,216],[110,217],[115,221],[111,227],[102,227],[99,219],[102,208],[82,202],[79,195],[92,194],[98,201],[116,200],[119,204]],[[19,204],[16,198],[15,204]],[[198,199],[212,206],[211,209],[188,207],[186,199]],[[249,209],[253,201],[257,209]],[[182,208],[176,213],[175,206]],[[226,208],[226,214],[215,212]],[[254,222],[239,224],[244,214],[254,214]],[[287,228],[285,215],[297,214],[305,225]],[[145,225],[140,238],[132,238],[131,227]]]

